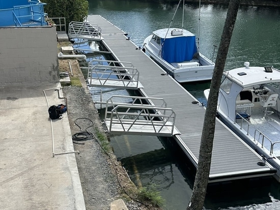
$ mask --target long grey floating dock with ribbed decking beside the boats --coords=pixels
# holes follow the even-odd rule
[[[137,46],[121,35],[124,32],[100,15],[89,16],[88,21],[99,25],[102,42],[118,60],[131,62],[137,68],[139,81],[144,87],[139,91],[147,97],[163,98],[175,111],[175,126],[181,135],[174,138],[196,167],[206,109],[192,103],[195,98],[142,50],[135,49]],[[270,165],[259,166],[258,162],[262,162],[261,157],[217,119],[209,182],[260,177],[275,172]]]

